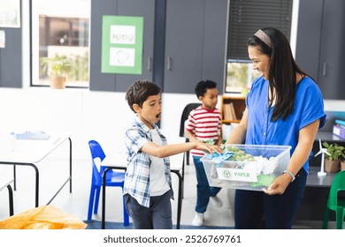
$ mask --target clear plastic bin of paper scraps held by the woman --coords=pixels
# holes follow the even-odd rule
[[[291,146],[226,145],[234,152],[227,161],[205,154],[203,168],[210,186],[261,191],[282,174],[290,161]],[[216,163],[219,162],[219,163]]]

